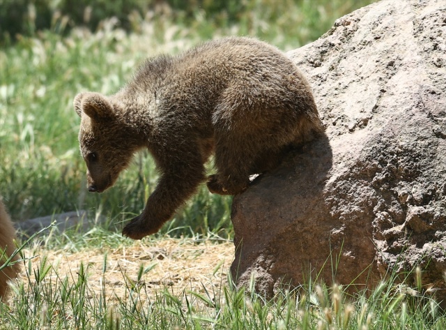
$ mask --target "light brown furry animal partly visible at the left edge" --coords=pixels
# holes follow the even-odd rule
[[[6,259],[13,254],[15,250],[15,229],[13,227],[13,223],[6,213],[5,206],[3,202],[0,200],[0,255],[3,254],[3,251],[6,250],[6,254],[3,256],[3,259],[0,260],[0,264],[4,264]],[[15,255],[13,261],[17,261],[19,259],[18,255]],[[20,264],[16,263],[13,266],[6,267],[0,271],[0,297],[1,299],[5,299],[6,293],[8,292],[8,280],[16,278],[17,274],[20,273]]]

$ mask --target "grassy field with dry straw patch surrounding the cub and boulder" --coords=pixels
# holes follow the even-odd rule
[[[392,276],[355,295],[316,280],[273,301],[236,290],[231,197],[205,187],[160,234],[123,239],[157,180],[148,153],[114,188],[86,191],[76,93],[114,93],[146,57],[222,36],[292,50],[371,2],[0,0],[0,195],[16,221],[91,211],[87,230],[49,227],[24,243],[0,329],[444,329],[425,290]]]

